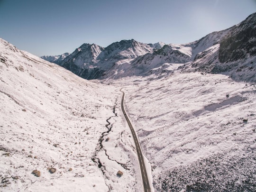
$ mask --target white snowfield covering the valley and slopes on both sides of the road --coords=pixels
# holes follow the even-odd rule
[[[87,81],[0,39],[0,190],[143,191],[123,88],[152,191],[255,191],[256,83],[164,65]]]

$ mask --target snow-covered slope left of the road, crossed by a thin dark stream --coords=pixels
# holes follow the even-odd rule
[[[0,191],[140,191],[120,102],[113,86],[0,39]]]

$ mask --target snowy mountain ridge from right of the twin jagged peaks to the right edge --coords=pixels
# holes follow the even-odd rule
[[[236,80],[255,82],[255,26],[256,13],[236,26],[210,33],[195,42],[165,45],[153,53],[139,56],[125,67],[116,67],[115,73],[109,72],[105,77],[172,73],[170,64],[175,64],[187,72],[223,73]]]

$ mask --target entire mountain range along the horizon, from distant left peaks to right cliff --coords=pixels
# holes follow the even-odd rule
[[[239,72],[252,70],[248,58],[256,55],[255,45],[256,13],[238,25],[192,43],[144,44],[131,39],[107,47],[82,44],[72,54],[41,58],[88,80],[163,73],[168,71],[168,64],[183,64],[182,70],[207,73]],[[234,64],[238,60],[243,62]]]

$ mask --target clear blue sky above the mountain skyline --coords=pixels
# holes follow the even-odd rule
[[[189,43],[253,12],[256,0],[0,0],[0,38],[38,56],[132,38]]]

